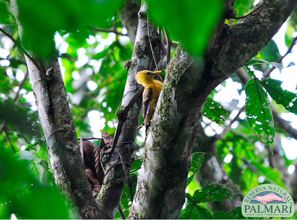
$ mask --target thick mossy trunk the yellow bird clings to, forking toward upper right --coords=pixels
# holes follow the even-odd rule
[[[226,25],[221,20],[203,59],[194,60],[181,46],[176,49],[166,68],[129,218],[179,218],[206,97],[271,40],[296,4],[295,0],[266,1],[237,23]]]

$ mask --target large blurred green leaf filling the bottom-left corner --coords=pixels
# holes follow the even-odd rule
[[[55,184],[40,184],[26,161],[17,160],[9,152],[2,148],[0,154],[0,219],[10,219],[12,213],[18,219],[68,219],[67,207]],[[32,155],[26,152],[23,158]]]

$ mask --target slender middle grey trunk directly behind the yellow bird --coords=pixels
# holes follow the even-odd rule
[[[139,22],[132,58],[125,64],[128,70],[128,78],[124,90],[121,108],[127,106],[129,101],[133,98],[140,87],[140,84],[138,84],[135,79],[136,73],[144,69],[149,69],[150,66],[152,55],[150,52],[149,38],[147,33],[146,10],[147,6],[143,2],[138,13]],[[151,40],[153,42],[160,40],[159,36],[157,36],[156,30],[152,26],[150,27],[150,32]],[[139,97],[129,110],[127,121],[122,127],[118,143],[135,140],[140,119],[141,107],[142,97]],[[116,147],[116,150],[121,153],[125,162],[130,161],[133,150],[128,149],[127,144]],[[115,165],[119,162],[119,155],[116,152],[113,152],[110,162],[106,165],[106,170],[109,171],[105,176],[102,189],[97,197],[98,200],[104,205],[104,213],[102,216],[104,219],[114,218],[119,205],[119,200],[123,192],[124,184],[126,183],[126,176],[123,172],[122,165]]]

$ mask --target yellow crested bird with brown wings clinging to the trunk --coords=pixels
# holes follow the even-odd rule
[[[151,119],[154,115],[159,94],[162,89],[162,82],[153,80],[154,76],[161,71],[143,70],[136,74],[136,80],[139,84],[144,86],[142,94],[142,125],[146,126],[146,132],[151,125]]]

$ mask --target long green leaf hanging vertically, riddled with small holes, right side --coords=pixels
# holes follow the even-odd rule
[[[274,125],[267,93],[257,78],[247,81],[245,93],[247,95],[245,100],[247,123],[261,138],[262,143],[267,144],[272,151]]]

